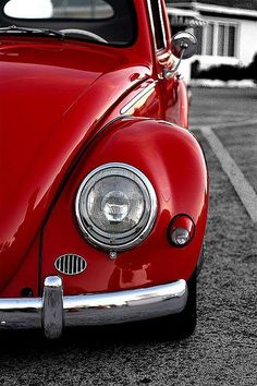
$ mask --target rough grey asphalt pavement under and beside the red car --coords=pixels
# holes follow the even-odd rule
[[[206,135],[256,194],[256,102],[257,89],[193,89],[191,124],[210,176],[195,334],[178,340],[134,325],[71,330],[49,342],[39,333],[4,333],[0,385],[257,385],[257,225]]]

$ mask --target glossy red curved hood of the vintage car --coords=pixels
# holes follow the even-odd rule
[[[0,284],[24,258],[81,147],[146,71],[128,68],[121,50],[0,41]]]

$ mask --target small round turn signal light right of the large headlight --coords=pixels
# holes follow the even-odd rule
[[[186,215],[175,216],[168,229],[169,240],[173,245],[184,246],[193,239],[195,225]]]

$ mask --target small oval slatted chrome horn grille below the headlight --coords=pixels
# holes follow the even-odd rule
[[[87,262],[82,256],[65,254],[56,260],[54,267],[64,275],[78,275],[86,269]]]

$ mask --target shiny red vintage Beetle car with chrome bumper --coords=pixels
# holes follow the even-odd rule
[[[178,314],[191,334],[208,173],[176,69],[194,36],[171,38],[162,0],[0,7],[0,327]]]

